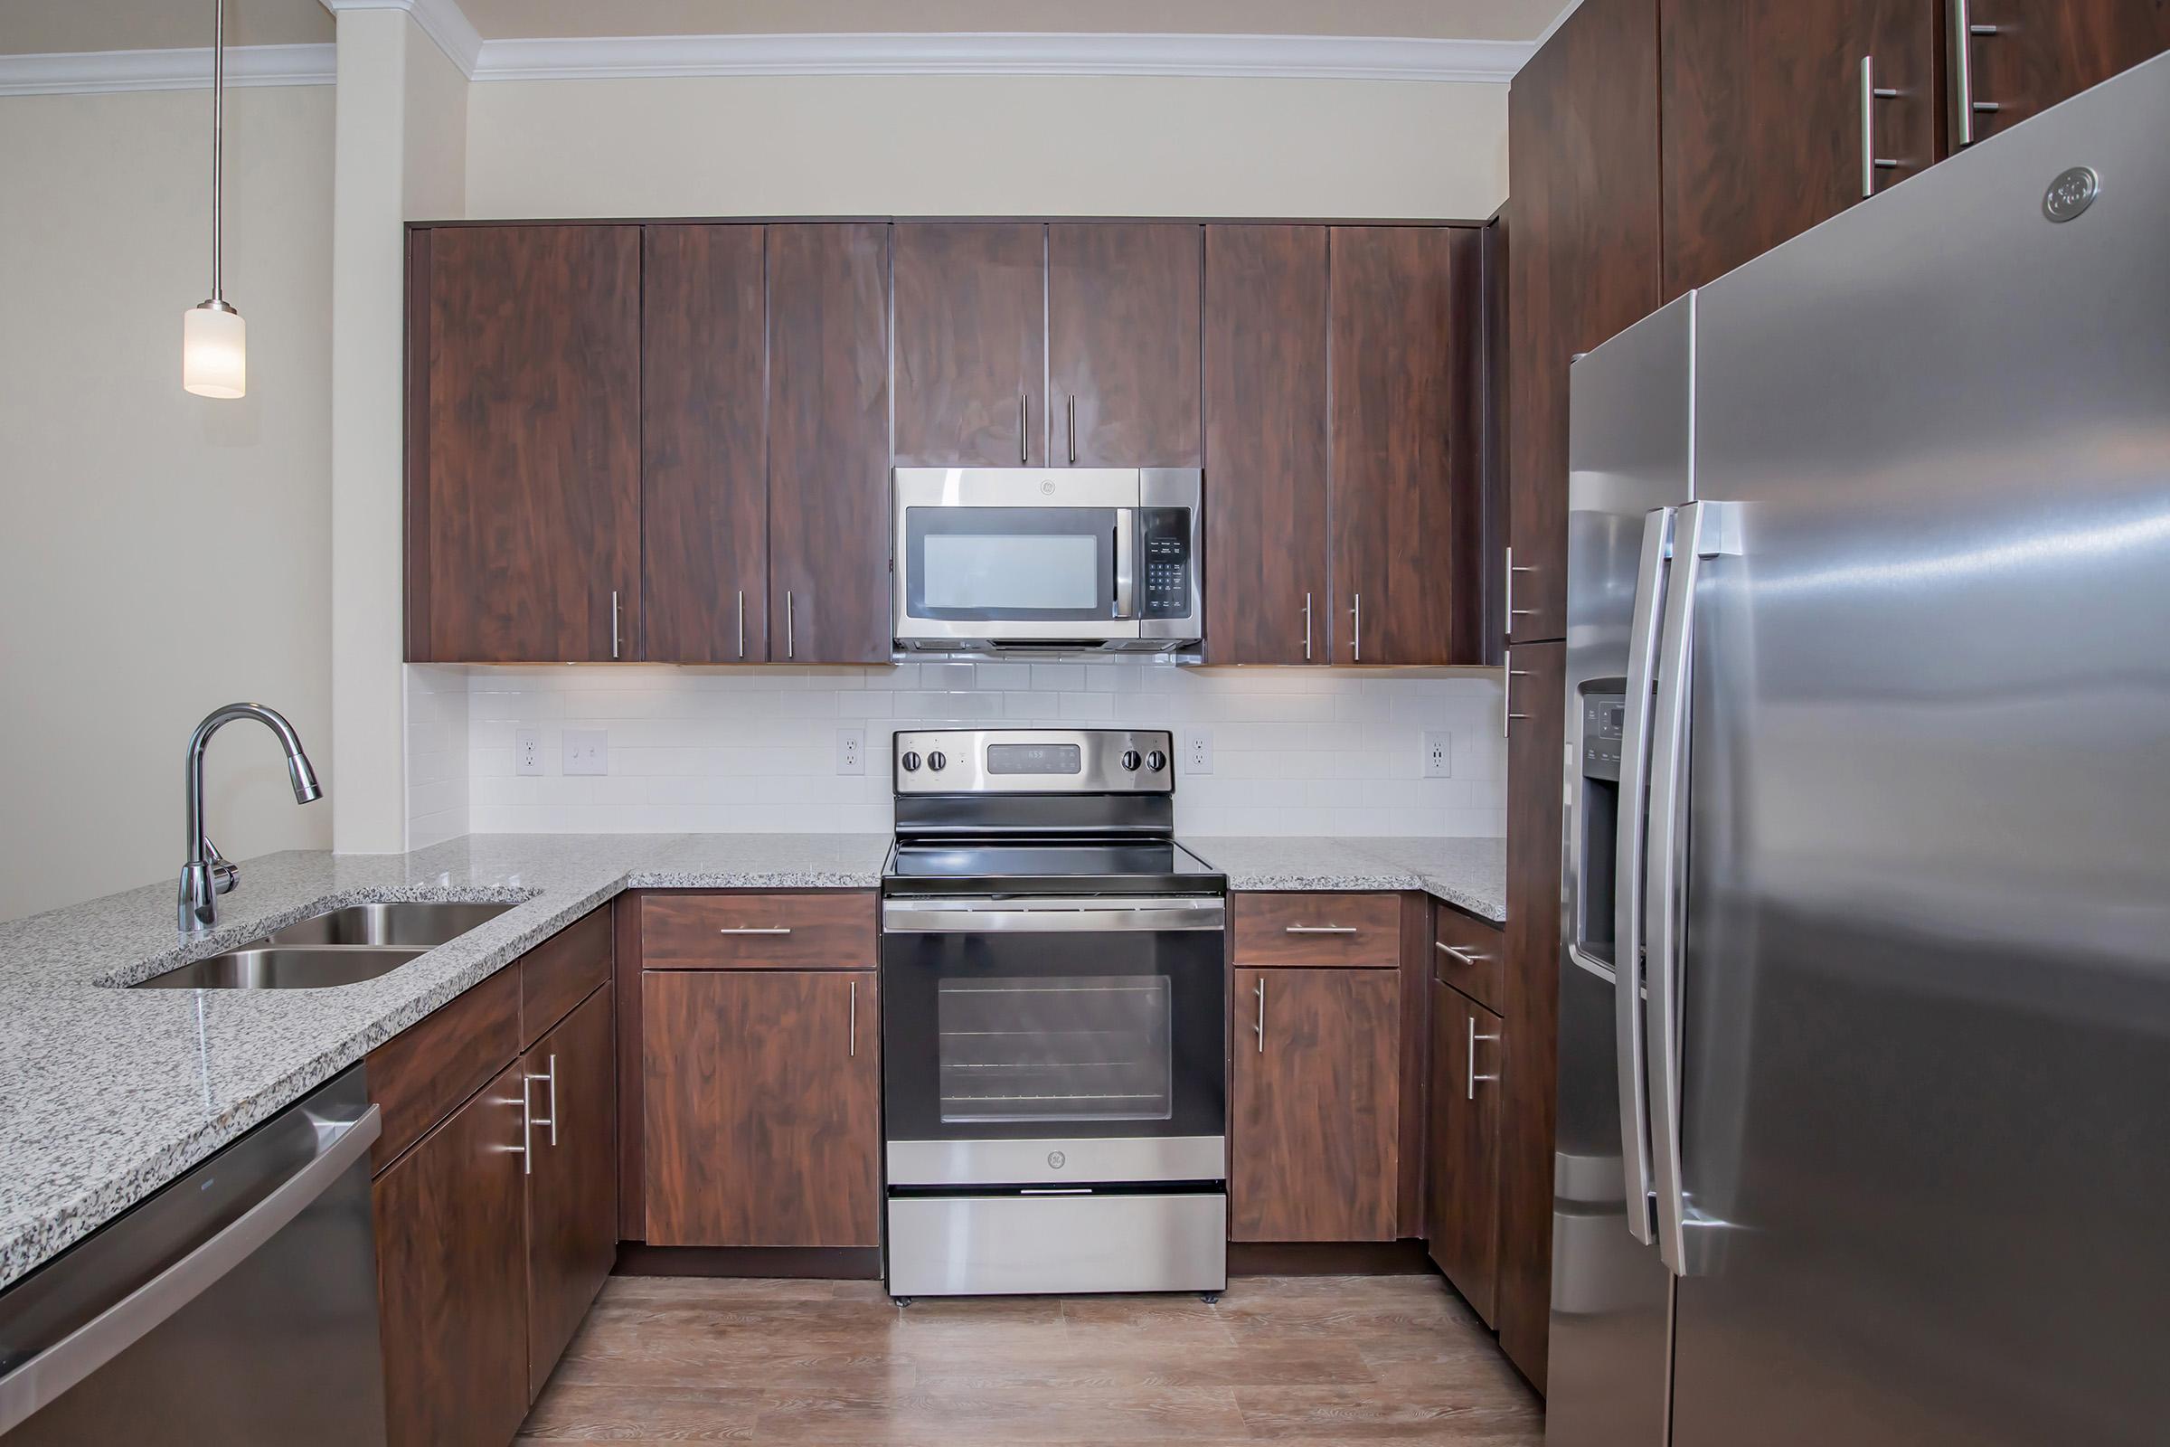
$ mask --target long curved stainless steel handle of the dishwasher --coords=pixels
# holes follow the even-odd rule
[[[0,1436],[143,1341],[284,1230],[369,1152],[384,1130],[384,1115],[378,1106],[369,1106],[345,1128],[330,1130],[328,1124],[317,1124],[317,1154],[263,1200],[119,1302],[0,1375]]]

